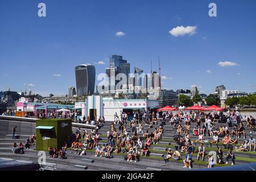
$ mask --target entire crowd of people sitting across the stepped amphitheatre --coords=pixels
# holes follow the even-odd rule
[[[55,114],[49,113],[49,117],[55,118]],[[228,164],[229,159],[231,159],[232,165],[235,162],[234,151],[255,152],[256,147],[253,135],[250,135],[249,139],[246,138],[246,134],[255,132],[255,119],[252,116],[242,117],[237,110],[228,111],[226,114],[221,111],[213,113],[203,111],[183,113],[178,111],[175,114],[152,111],[149,113],[134,113],[131,120],[128,119],[126,113],[122,113],[120,116],[115,113],[113,122],[106,133],[106,143],[102,145],[99,144],[101,140],[99,130],[105,124],[104,117],[97,121],[90,121],[89,118],[83,117],[82,121],[79,121],[76,113],[70,114],[69,117],[75,119],[76,122],[94,125],[96,129],[91,129],[88,132],[79,128],[75,134],[68,137],[64,147],[59,149],[49,147],[49,156],[52,158],[65,158],[67,148],[71,147],[79,155],[86,155],[86,150],[95,150],[95,157],[106,158],[113,158],[113,154],[124,153],[127,162],[138,162],[140,156],[150,156],[151,146],[157,145],[162,139],[164,126],[166,125],[170,125],[175,131],[174,140],[176,144],[174,151],[168,148],[167,154],[163,155],[164,162],[168,163],[170,159],[181,160],[181,154],[184,153],[184,168],[192,167],[193,154],[197,154],[196,162],[205,161],[205,156],[207,156],[206,144],[209,144],[213,150],[216,146],[218,164]],[[244,140],[238,140],[239,138]],[[30,138],[30,142],[27,142],[32,143],[33,139],[35,138]],[[199,143],[199,147],[197,147],[197,143]],[[23,146],[23,144],[20,144],[20,146]],[[222,146],[226,151],[225,155],[222,152]],[[214,155],[208,154],[207,163],[209,168],[215,165],[214,157]]]

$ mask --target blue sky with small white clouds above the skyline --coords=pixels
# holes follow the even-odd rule
[[[40,2],[46,17],[38,16]],[[217,17],[208,15],[211,2]],[[43,96],[63,95],[75,86],[76,65],[91,63],[104,73],[109,55],[117,54],[131,72],[136,65],[147,73],[150,60],[158,69],[160,56],[168,89],[197,85],[209,94],[224,84],[255,92],[255,18],[254,0],[1,0],[0,90],[20,92],[31,84]]]

